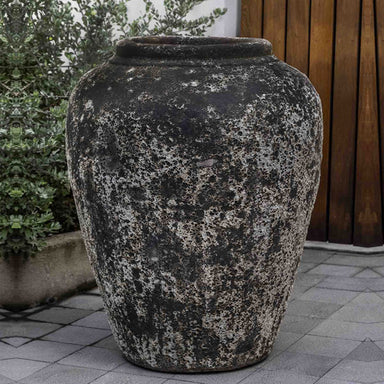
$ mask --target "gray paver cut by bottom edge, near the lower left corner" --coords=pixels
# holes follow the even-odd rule
[[[89,384],[105,371],[52,364],[21,380],[24,384]]]

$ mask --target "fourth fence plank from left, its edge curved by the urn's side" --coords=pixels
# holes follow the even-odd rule
[[[317,241],[327,240],[334,13],[334,0],[312,0],[309,78],[319,92],[324,121],[321,180],[308,232]]]

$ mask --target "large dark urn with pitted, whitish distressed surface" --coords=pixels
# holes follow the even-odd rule
[[[67,158],[125,357],[225,371],[271,352],[320,175],[306,76],[251,38],[135,37],[74,90]]]

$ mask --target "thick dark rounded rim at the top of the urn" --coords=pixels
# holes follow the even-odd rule
[[[119,58],[234,59],[272,55],[272,44],[249,37],[135,36],[116,45]]]

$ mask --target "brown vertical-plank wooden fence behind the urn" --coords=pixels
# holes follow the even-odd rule
[[[383,244],[384,0],[242,0],[241,35],[306,73],[324,113],[308,237]]]

